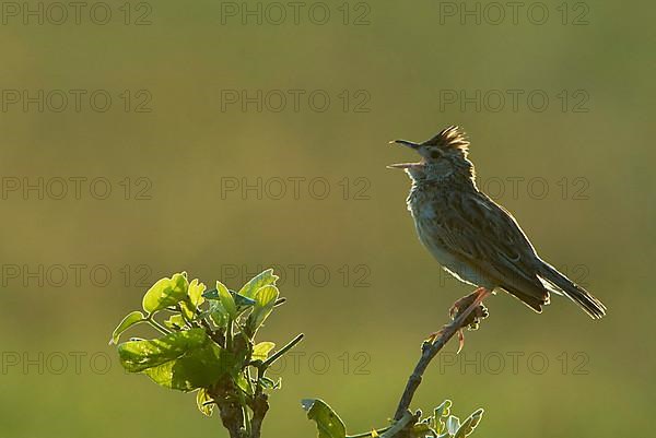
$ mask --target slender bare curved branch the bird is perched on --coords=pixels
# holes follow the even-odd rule
[[[475,294],[476,293],[468,295],[467,297],[460,299],[458,303],[471,300],[470,304],[472,304]],[[394,414],[394,419],[396,422],[399,422],[401,418],[405,417],[406,413],[409,412],[410,403],[412,402],[414,392],[417,392],[417,388],[419,388],[419,384],[422,380],[422,376],[429,367],[431,360],[437,355],[437,353],[440,353],[442,347],[446,345],[446,343],[454,336],[454,334],[456,334],[459,330],[466,328],[467,325],[473,322],[472,318],[470,317],[470,313],[475,309],[482,309],[482,311],[477,311],[475,313],[473,321],[476,321],[476,319],[478,318],[484,318],[487,316],[487,310],[484,309],[484,307],[482,307],[482,305],[480,305],[479,307],[467,306],[465,307],[465,310],[462,310],[462,312],[457,313],[456,318],[452,322],[444,325],[444,328],[440,331],[440,336],[437,336],[433,342],[424,341],[424,343],[421,346],[421,357],[414,366],[414,370],[410,375],[408,383],[406,383],[406,389],[403,390],[403,394],[401,395],[399,405],[396,410],[396,413]]]

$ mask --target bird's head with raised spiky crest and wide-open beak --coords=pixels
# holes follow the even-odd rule
[[[473,178],[473,165],[467,159],[469,141],[458,127],[443,129],[423,143],[408,140],[394,140],[390,143],[410,147],[421,156],[417,163],[387,166],[405,169],[414,181],[440,181],[457,176]]]

